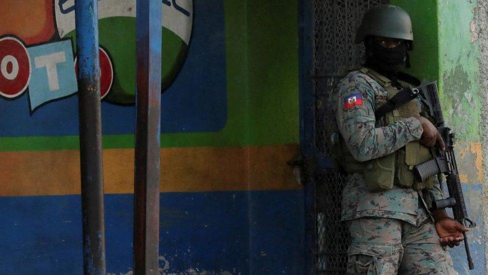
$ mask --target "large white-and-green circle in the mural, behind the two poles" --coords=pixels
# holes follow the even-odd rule
[[[113,83],[105,99],[135,102],[135,0],[98,0],[100,46],[113,64]],[[162,0],[162,91],[178,75],[188,50],[193,23],[192,0]],[[75,46],[74,1],[56,0],[56,27]]]

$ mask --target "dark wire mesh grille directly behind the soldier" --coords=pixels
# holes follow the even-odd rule
[[[388,0],[314,0],[315,147],[332,157],[327,145],[327,123],[333,122],[327,101],[334,84],[348,69],[362,64],[364,47],[354,36],[364,13]],[[340,222],[340,200],[346,176],[326,169],[316,175],[316,270],[319,274],[343,274],[349,236]]]

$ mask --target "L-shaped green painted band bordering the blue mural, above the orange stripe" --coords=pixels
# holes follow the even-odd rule
[[[298,143],[296,0],[286,5],[277,0],[226,0],[224,5],[227,70],[225,127],[217,132],[163,134],[161,146]],[[133,146],[133,135],[103,136],[104,148]],[[77,136],[0,138],[0,151],[78,148]]]

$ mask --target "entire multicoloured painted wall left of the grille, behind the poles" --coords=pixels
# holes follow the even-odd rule
[[[135,1],[115,2],[98,5],[108,60],[106,259],[119,274],[132,265]],[[6,273],[82,272],[76,83],[63,81],[75,73],[70,3],[0,2],[0,36],[21,41],[15,53],[31,61],[23,91],[0,81],[10,93],[0,98]],[[162,5],[171,20],[162,24],[160,271],[301,273],[303,190],[286,165],[298,153],[296,1]],[[1,59],[11,47],[0,46]],[[58,52],[65,58],[56,70],[35,66],[36,57]],[[58,85],[49,86],[54,75]]]

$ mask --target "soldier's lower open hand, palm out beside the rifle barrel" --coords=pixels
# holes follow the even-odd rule
[[[462,232],[470,229],[450,217],[443,217],[435,220],[435,230],[442,246],[454,247],[464,239]]]

